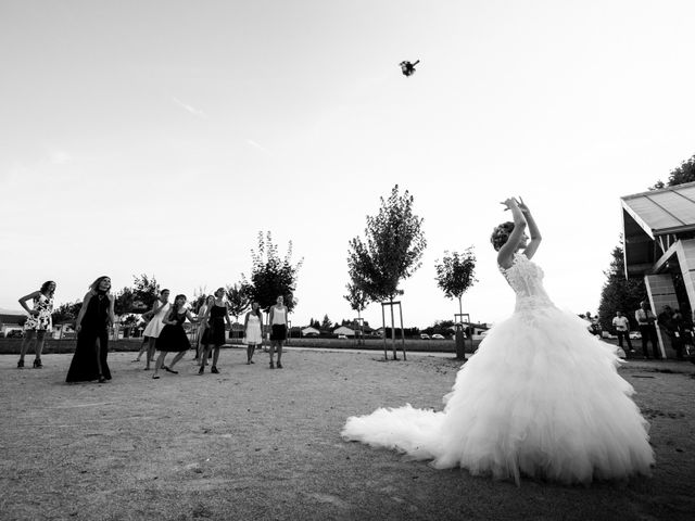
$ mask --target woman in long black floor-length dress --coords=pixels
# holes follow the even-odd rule
[[[109,325],[114,321],[114,297],[111,294],[111,278],[103,276],[94,280],[83,301],[75,330],[77,346],[67,371],[66,382],[100,383],[111,380],[106,357],[109,355]]]

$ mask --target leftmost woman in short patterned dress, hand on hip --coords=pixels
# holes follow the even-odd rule
[[[20,298],[20,305],[26,310],[29,317],[24,323],[24,340],[20,351],[20,361],[17,367],[24,367],[24,355],[26,355],[30,343],[34,344],[34,367],[41,369],[41,352],[43,351],[43,342],[46,332],[53,329],[51,313],[53,312],[53,293],[55,293],[55,282],[47,280],[41,284],[41,289],[24,295]],[[29,309],[26,302],[34,301],[34,308]]]

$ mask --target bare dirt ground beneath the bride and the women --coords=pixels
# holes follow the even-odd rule
[[[0,519],[679,520],[695,512],[695,366],[631,361],[620,370],[652,423],[650,479],[559,486],[440,471],[340,439],[378,406],[442,408],[459,364],[379,353],[293,350],[220,374],[152,380],[112,353],[113,380],[65,384],[72,355],[16,369],[0,356]],[[33,357],[27,356],[30,366]]]

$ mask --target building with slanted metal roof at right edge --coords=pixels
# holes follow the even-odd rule
[[[695,182],[620,198],[626,277],[644,277],[652,312],[695,309]],[[673,354],[657,328],[661,354]]]

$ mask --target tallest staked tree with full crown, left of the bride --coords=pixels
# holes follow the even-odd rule
[[[380,201],[379,213],[367,216],[366,242],[358,237],[350,241],[348,268],[352,283],[369,300],[391,303],[391,340],[396,359],[393,298],[403,293],[399,290],[401,280],[420,267],[427,241],[424,219],[413,213],[414,198],[407,190],[401,195],[396,185],[389,199]]]

